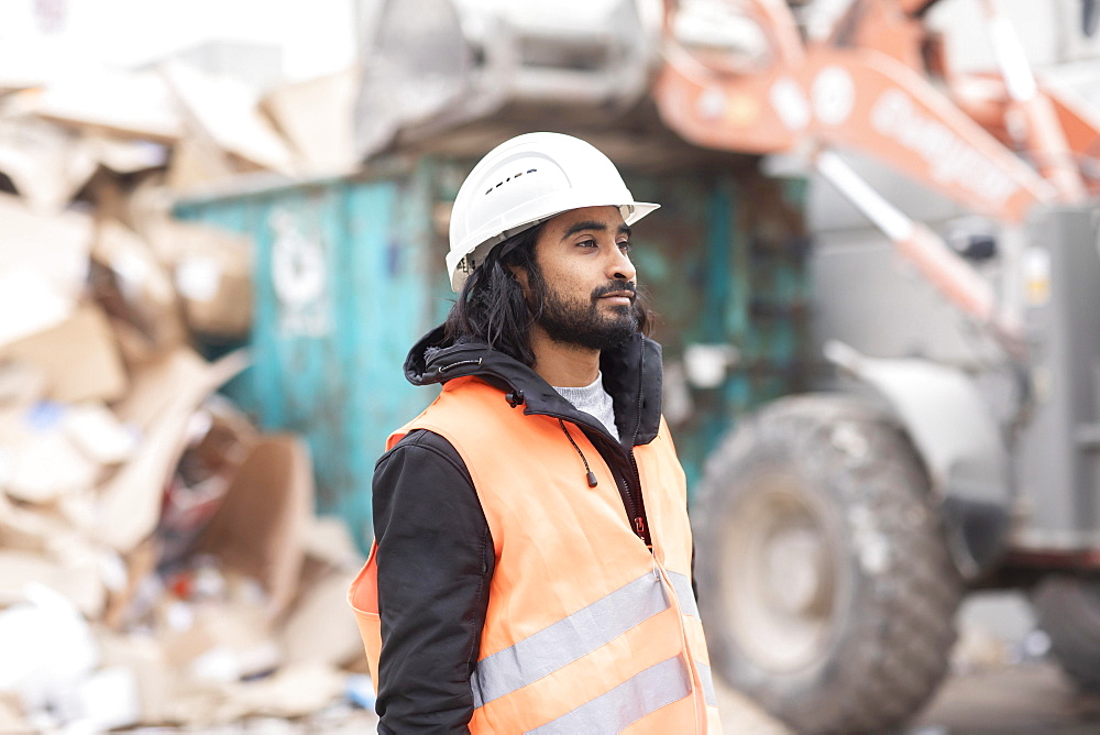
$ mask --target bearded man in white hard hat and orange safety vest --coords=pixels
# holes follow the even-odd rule
[[[459,292],[405,374],[352,586],[380,733],[718,732],[683,471],[644,336],[635,201],[584,141],[529,133],[463,183]]]

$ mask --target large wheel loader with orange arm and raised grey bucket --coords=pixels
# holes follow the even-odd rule
[[[1100,117],[1036,78],[993,0],[981,74],[953,68],[937,0],[854,0],[824,33],[806,2],[535,4],[386,4],[364,151],[649,96],[683,140],[831,198],[828,390],[739,420],[694,491],[716,671],[800,732],[889,729],[945,676],[966,591],[1015,586],[1100,689]]]

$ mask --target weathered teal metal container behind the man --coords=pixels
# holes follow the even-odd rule
[[[264,430],[306,437],[317,509],[370,545],[371,476],[386,437],[435,398],[403,363],[453,299],[447,212],[472,162],[426,157],[353,177],[183,201],[176,216],[255,242],[253,366],[227,392]],[[802,187],[744,171],[639,174],[662,208],[635,228],[639,279],[670,375],[690,344],[732,344],[716,387],[678,383],[671,423],[690,485],[736,417],[809,379]]]

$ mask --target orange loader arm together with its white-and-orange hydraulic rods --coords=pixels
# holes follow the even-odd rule
[[[746,61],[692,39],[692,3],[667,0],[653,95],[664,122],[693,143],[810,158],[947,298],[1022,359],[1020,325],[998,310],[989,284],[834,154],[870,155],[1011,223],[1036,204],[1100,193],[1081,167],[1100,153],[1100,118],[1036,80],[992,0],[982,9],[1000,73],[953,72],[942,39],[924,24],[936,2],[857,0],[822,39],[807,39],[783,0],[729,2],[727,13],[766,41]]]

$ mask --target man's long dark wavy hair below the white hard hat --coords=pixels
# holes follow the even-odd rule
[[[544,224],[514,234],[496,245],[470,274],[443,322],[447,341],[482,340],[528,368],[535,364],[530,329],[539,318],[541,305],[536,310],[528,306],[524,286],[512,268],[518,266],[527,271],[531,283],[544,283],[542,271],[535,260],[535,243]],[[649,334],[653,314],[646,305],[641,289],[638,290],[635,312],[638,331]]]

